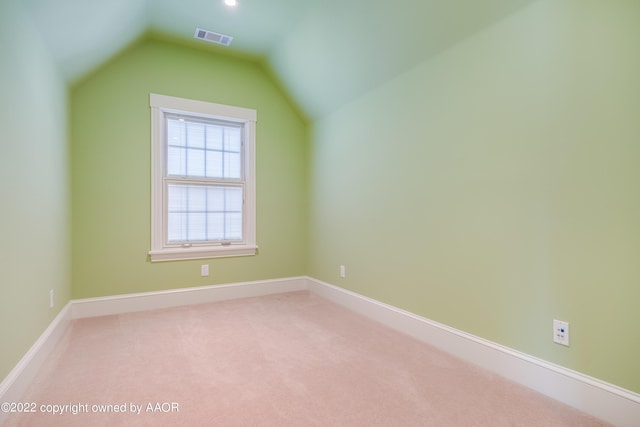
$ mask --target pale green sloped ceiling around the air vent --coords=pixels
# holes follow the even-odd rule
[[[535,0],[23,1],[71,84],[147,31],[201,27],[232,35],[226,49],[266,63],[317,118]]]

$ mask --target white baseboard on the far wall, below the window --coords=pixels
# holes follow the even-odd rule
[[[156,310],[183,305],[224,301],[236,298],[294,292],[307,289],[305,277],[261,280],[256,282],[212,285],[197,288],[115,295],[72,301],[72,317],[108,316],[135,311]]]

